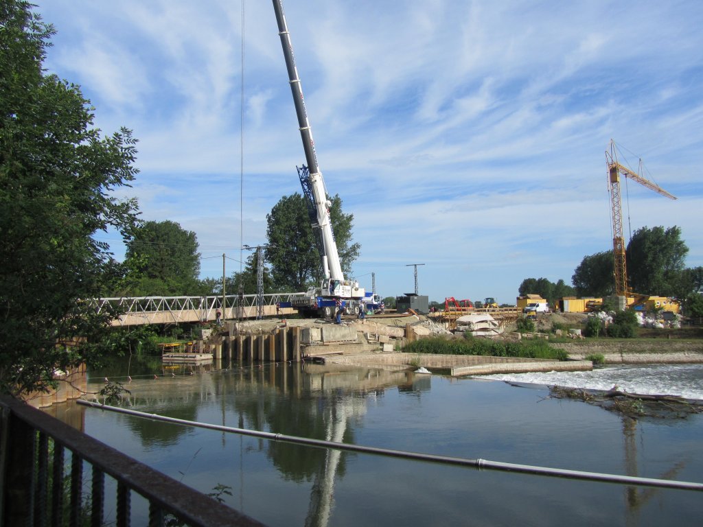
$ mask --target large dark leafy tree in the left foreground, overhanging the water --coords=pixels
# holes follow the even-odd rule
[[[110,311],[100,297],[124,268],[95,236],[129,240],[136,202],[129,186],[136,140],[102,137],[78,86],[45,74],[53,27],[32,5],[0,0],[0,391],[54,384],[53,372],[93,363]],[[82,344],[67,346],[82,337]]]

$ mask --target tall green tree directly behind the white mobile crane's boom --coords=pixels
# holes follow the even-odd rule
[[[361,246],[352,243],[353,214],[342,212],[338,195],[330,199],[330,221],[342,271],[351,274]],[[282,197],[266,215],[266,261],[271,263],[273,283],[279,289],[304,291],[323,278],[322,263],[307,204],[300,194]]]

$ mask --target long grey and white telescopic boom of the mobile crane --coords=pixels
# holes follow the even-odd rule
[[[298,127],[300,129],[300,138],[303,142],[303,150],[305,151],[305,160],[309,176],[307,187],[311,192],[311,200],[314,202],[316,212],[316,227],[320,232],[320,249],[323,272],[326,280],[344,281],[342,266],[340,264],[340,256],[337,252],[337,244],[332,232],[332,223],[330,222],[330,201],[327,197],[325,189],[325,181],[322,177],[322,172],[317,162],[317,154],[315,152],[315,142],[312,138],[312,130],[305,109],[305,100],[303,98],[302,86],[298,77],[297,67],[295,67],[295,58],[293,58],[293,47],[290,42],[290,33],[288,32],[288,24],[285,21],[283,13],[283,0],[273,0],[273,11],[276,11],[276,21],[278,22],[278,34],[280,35],[280,45],[283,46],[283,56],[285,57],[285,66],[288,69],[288,80],[290,82],[290,91],[295,104],[295,113],[298,117]],[[305,185],[304,185],[305,190]]]

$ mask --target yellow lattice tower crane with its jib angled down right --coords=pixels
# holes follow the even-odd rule
[[[626,296],[630,290],[627,286],[627,267],[625,263],[625,239],[622,235],[622,203],[620,199],[620,174],[630,178],[640,185],[654,190],[654,192],[676,200],[676,197],[669,194],[656,183],[652,183],[639,174],[635,174],[630,169],[623,167],[617,160],[615,142],[610,140],[610,152],[605,151],[605,160],[608,166],[608,190],[610,192],[610,204],[612,206],[613,221],[613,259],[615,275],[615,294],[619,297]],[[642,172],[642,160],[640,160],[639,171]]]

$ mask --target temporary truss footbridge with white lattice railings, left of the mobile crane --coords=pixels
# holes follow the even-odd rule
[[[277,310],[276,306],[300,294],[302,293],[264,294],[262,299],[257,294],[231,294],[225,297],[113,297],[91,299],[89,303],[98,313],[105,310],[118,313],[117,318],[112,320],[113,326],[177,324],[216,320],[218,310],[221,311],[222,318],[230,320],[288,315],[295,313],[295,310]]]

